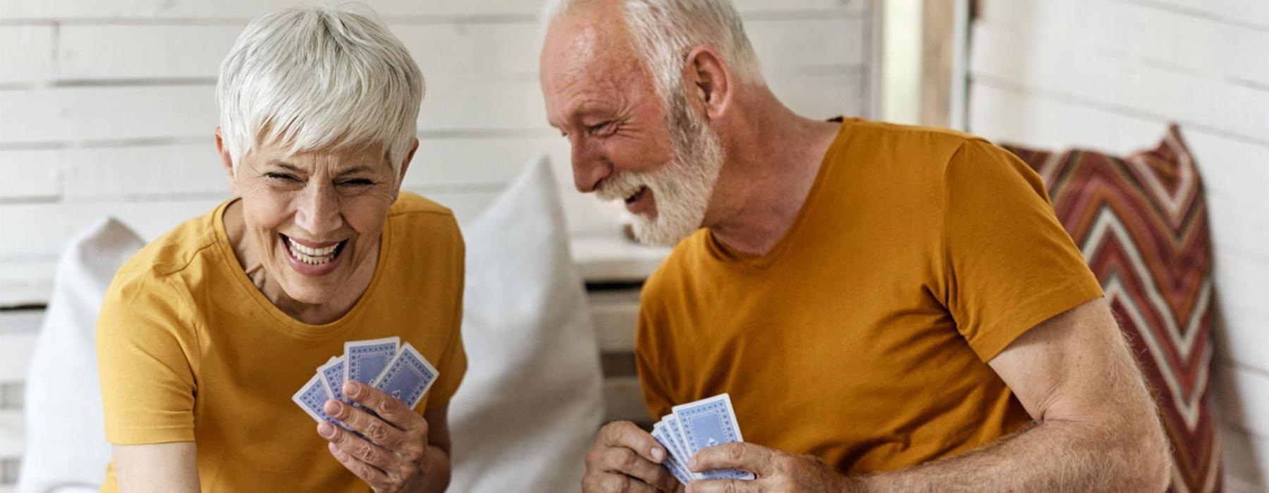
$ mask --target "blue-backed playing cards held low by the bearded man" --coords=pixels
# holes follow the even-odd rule
[[[675,406],[674,413],[652,426],[652,437],[670,451],[665,468],[684,485],[693,479],[754,479],[754,473],[737,469],[688,470],[688,459],[700,449],[745,441],[727,394]]]

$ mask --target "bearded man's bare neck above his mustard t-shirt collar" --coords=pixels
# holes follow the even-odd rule
[[[779,101],[726,141],[727,163],[706,226],[723,245],[763,255],[788,232],[806,203],[840,124],[798,117]]]

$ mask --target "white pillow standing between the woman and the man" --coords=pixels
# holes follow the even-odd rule
[[[453,492],[576,490],[603,419],[599,346],[546,156],[471,227],[449,408]]]

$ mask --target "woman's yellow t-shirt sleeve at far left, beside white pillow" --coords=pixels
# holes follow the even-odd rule
[[[181,293],[148,272],[121,272],[96,322],[105,439],[194,440],[198,342]]]

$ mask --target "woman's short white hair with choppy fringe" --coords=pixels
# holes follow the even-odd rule
[[[381,146],[400,179],[424,80],[360,5],[299,6],[251,20],[221,63],[221,137],[237,172],[260,144],[291,153]]]

